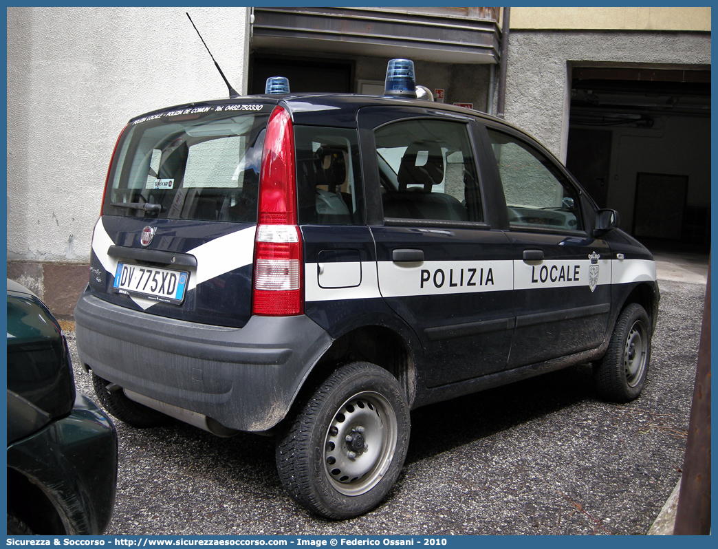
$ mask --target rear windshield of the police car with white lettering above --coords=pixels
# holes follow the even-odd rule
[[[269,112],[211,114],[131,125],[118,144],[103,214],[256,223],[268,119]]]

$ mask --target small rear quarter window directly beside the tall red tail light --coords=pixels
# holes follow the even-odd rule
[[[299,223],[364,223],[356,130],[294,126],[294,147]]]

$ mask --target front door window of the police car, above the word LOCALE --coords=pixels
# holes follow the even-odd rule
[[[512,227],[583,229],[576,189],[549,158],[488,128]]]

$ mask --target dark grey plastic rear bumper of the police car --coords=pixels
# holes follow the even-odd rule
[[[304,315],[225,328],[129,310],[89,291],[75,308],[75,334],[80,361],[99,377],[245,431],[284,418],[332,343]]]

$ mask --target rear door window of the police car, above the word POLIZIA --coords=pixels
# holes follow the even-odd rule
[[[398,121],[374,137],[385,218],[482,221],[466,124]]]

